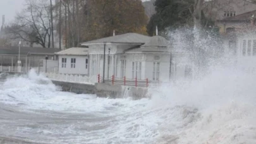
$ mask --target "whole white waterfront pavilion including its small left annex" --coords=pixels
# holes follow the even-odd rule
[[[130,81],[135,78],[138,81],[170,81],[191,75],[188,66],[179,60],[185,56],[181,52],[172,52],[168,41],[158,35],[125,33],[82,45],[87,46],[88,51],[87,48],[70,48],[57,53],[59,73],[85,74],[95,80],[97,75],[105,80],[114,76]]]

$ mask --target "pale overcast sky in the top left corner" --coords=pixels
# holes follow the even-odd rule
[[[9,23],[15,18],[16,13],[21,11],[24,3],[25,0],[0,0],[0,27],[2,25],[2,16],[5,15],[5,21]]]

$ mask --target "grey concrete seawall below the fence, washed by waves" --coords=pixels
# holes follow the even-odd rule
[[[95,83],[88,85],[84,83],[70,83],[66,81],[52,81],[54,85],[58,85],[63,91],[73,93],[96,94],[97,97],[142,99],[147,96],[147,88],[128,87],[121,85],[109,85],[106,83]]]

